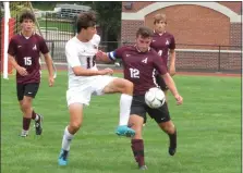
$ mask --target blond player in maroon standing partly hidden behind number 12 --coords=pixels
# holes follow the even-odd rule
[[[166,14],[156,14],[154,17],[154,35],[150,47],[158,52],[165,64],[168,66],[169,74],[173,76],[175,74],[175,41],[173,35],[166,30]],[[169,55],[170,64],[168,65]],[[156,75],[156,81],[167,96],[168,87],[159,74]]]

